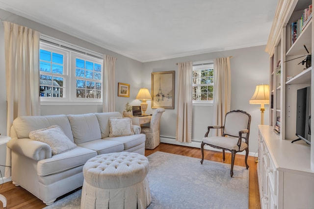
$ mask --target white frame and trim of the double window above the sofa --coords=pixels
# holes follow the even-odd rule
[[[48,43],[47,43],[48,42]],[[62,44],[62,45],[61,45]],[[45,71],[40,71],[39,74],[43,75],[57,75],[63,78],[63,94],[64,97],[53,97],[53,94],[50,97],[40,96],[41,105],[86,105],[86,103],[93,103],[93,105],[103,104],[103,93],[104,93],[104,83],[103,83],[103,59],[100,54],[96,52],[91,52],[86,49],[86,52],[83,48],[78,46],[69,47],[67,43],[64,43],[59,40],[55,40],[49,37],[44,36],[40,40],[39,49],[44,49],[59,53],[63,55],[63,74],[56,73],[47,73]],[[79,49],[79,50],[78,50]],[[99,82],[102,85],[101,89],[101,98],[77,98],[76,97],[76,57],[83,59],[85,61],[90,61],[101,65],[101,80]],[[83,78],[86,79],[86,78]],[[40,88],[40,86],[39,86]],[[53,87],[52,87],[53,89]]]

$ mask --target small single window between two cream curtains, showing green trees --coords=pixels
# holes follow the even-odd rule
[[[193,64],[193,103],[210,104],[213,100],[213,63]]]

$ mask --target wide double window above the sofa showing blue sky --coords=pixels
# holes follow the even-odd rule
[[[102,102],[102,59],[41,41],[39,63],[42,102]]]

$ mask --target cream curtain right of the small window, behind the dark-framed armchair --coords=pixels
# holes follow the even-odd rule
[[[231,70],[230,57],[214,60],[214,98],[213,98],[213,125],[223,125],[225,115],[230,111],[231,101]],[[212,132],[213,136],[221,136],[222,130]]]

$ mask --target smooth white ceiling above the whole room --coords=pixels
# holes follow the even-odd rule
[[[277,2],[0,0],[0,8],[148,62],[265,45]]]

